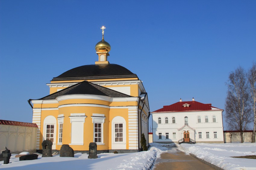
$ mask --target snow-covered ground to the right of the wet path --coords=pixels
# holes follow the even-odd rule
[[[256,155],[256,143],[181,144],[178,149],[187,154],[194,154],[196,157],[222,169],[256,169],[255,159],[231,158]]]

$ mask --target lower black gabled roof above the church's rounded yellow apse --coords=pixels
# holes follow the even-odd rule
[[[72,85],[68,88],[64,88],[61,91],[57,91],[53,94],[45,96],[41,99],[36,100],[49,100],[56,99],[58,96],[70,95],[70,94],[93,94],[93,95],[101,95],[108,97],[132,97],[127,94],[120,93],[118,91],[111,90],[109,88],[102,87],[100,85],[93,84],[91,82],[83,81]],[[30,99],[33,100],[33,99]]]

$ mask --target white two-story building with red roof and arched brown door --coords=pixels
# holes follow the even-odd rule
[[[164,106],[152,114],[153,142],[224,143],[223,109],[195,101]]]

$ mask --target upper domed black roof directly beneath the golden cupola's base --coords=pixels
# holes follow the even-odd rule
[[[110,79],[110,78],[138,78],[127,68],[118,64],[92,64],[68,70],[52,81],[80,80],[80,79]]]

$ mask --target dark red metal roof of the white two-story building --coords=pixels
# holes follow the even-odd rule
[[[189,107],[184,107],[183,106],[184,104],[188,104]],[[196,101],[186,101],[186,102],[177,102],[169,106],[164,106],[162,109],[158,109],[154,112],[189,112],[189,111],[208,111],[208,110],[222,110],[222,109],[211,106],[211,103],[204,104]]]

